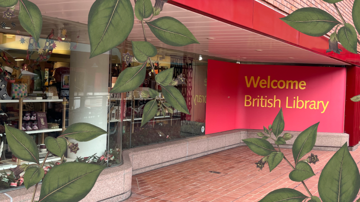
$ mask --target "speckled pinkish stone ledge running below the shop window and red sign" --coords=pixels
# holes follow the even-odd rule
[[[260,130],[238,129],[205,136],[197,136],[177,141],[165,142],[156,145],[138,147],[122,152],[123,164],[101,172],[91,192],[80,202],[119,202],[130,197],[131,177],[146,171],[195,159],[230,148],[245,146],[242,139],[258,138]],[[283,133],[288,132],[284,131]],[[291,148],[293,141],[300,132],[290,131],[294,138],[287,141],[289,145],[282,148]],[[348,142],[345,133],[317,133],[315,150],[337,151],[345,142]],[[274,142],[270,140],[270,143]],[[111,179],[111,180],[110,180]],[[109,184],[110,183],[110,184]],[[113,187],[111,193],[108,187]],[[9,191],[13,202],[30,202],[34,187]],[[38,200],[41,185],[38,186],[35,199]],[[99,193],[107,193],[101,195]],[[10,202],[4,194],[0,195],[1,202]]]

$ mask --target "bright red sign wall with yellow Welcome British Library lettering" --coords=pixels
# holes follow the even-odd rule
[[[286,131],[320,122],[318,132],[343,132],[346,69],[244,65],[209,60],[206,134],[262,129],[282,108]]]

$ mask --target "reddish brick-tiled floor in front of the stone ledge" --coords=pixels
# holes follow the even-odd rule
[[[281,152],[293,165],[291,149],[281,149]],[[312,153],[318,156],[319,162],[311,164],[316,175],[305,184],[312,195],[318,196],[321,170],[335,152]],[[360,148],[350,153],[360,168]],[[307,195],[301,183],[289,180],[291,168],[284,160],[270,173],[268,165],[262,171],[256,169],[254,163],[260,159],[242,146],[138,174],[132,177],[132,194],[126,201],[258,202],[267,193],[280,188],[292,188]]]

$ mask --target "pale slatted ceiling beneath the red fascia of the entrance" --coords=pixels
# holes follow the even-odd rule
[[[51,28],[57,26],[56,24],[65,23],[65,29],[67,29],[69,37],[73,38],[79,34],[79,42],[88,43],[87,15],[94,0],[31,1],[39,7],[44,15],[42,33],[49,32]],[[154,0],[151,1],[154,4]],[[134,6],[133,0],[131,0],[131,3]],[[347,63],[342,61],[319,55],[168,3],[164,4],[162,12],[153,19],[162,16],[175,17],[181,21],[193,33],[200,44],[190,44],[183,47],[166,45],[159,41],[145,25],[147,39],[150,39],[151,43],[158,47],[244,62],[347,65]],[[15,18],[16,20],[17,18]],[[6,22],[6,24],[10,23],[10,21]],[[18,23],[18,20],[16,23]],[[11,31],[9,30],[9,32]],[[20,31],[23,33],[24,30]],[[209,40],[207,38],[214,39]],[[144,40],[141,23],[139,23],[136,17],[128,40]]]

